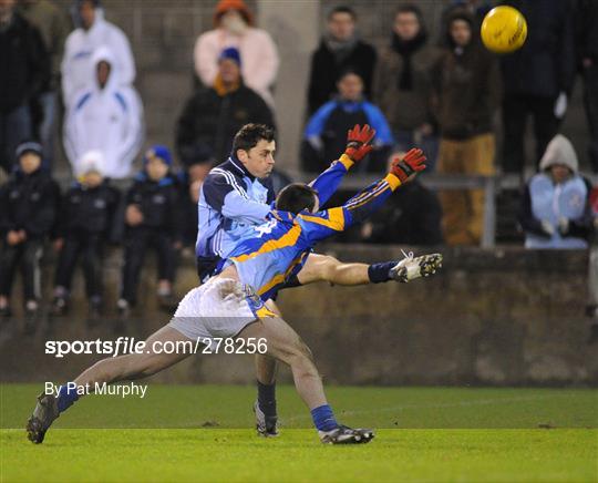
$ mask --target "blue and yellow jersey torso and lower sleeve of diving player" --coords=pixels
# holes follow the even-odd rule
[[[298,215],[272,210],[268,222],[255,226],[251,234],[237,243],[227,259],[220,261],[219,269],[234,264],[240,281],[268,300],[290,276],[299,273],[319,240],[364,219],[400,184],[399,178],[389,174],[340,207]]]

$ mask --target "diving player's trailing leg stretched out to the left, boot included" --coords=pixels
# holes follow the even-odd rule
[[[80,395],[94,392],[96,383],[146,378],[190,356],[190,350],[182,350],[178,353],[161,351],[165,342],[176,345],[177,341],[188,342],[192,339],[183,336],[178,330],[165,326],[147,338],[143,353],[130,353],[102,359],[83,371],[74,381],[61,386],[58,397],[53,393],[47,394],[42,392],[38,397],[33,414],[27,423],[29,440],[33,443],[41,443],[52,422],[69,409]],[[78,394],[78,388],[82,387],[86,388],[85,392]]]

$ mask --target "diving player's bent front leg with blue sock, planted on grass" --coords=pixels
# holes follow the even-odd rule
[[[371,430],[353,430],[337,422],[326,399],[311,351],[285,320],[279,317],[258,319],[246,326],[237,337],[266,339],[267,353],[290,366],[297,392],[311,411],[313,424],[322,442],[367,443],[373,438]]]

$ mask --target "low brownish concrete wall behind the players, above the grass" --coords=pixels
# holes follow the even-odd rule
[[[319,251],[370,263],[401,257],[396,246],[330,245]],[[313,350],[327,382],[598,383],[598,351],[586,345],[584,251],[443,251],[444,268],[431,279],[354,288],[318,284],[281,292],[282,314]],[[112,332],[118,270],[120,253],[115,251],[105,267],[109,311],[92,329],[85,322],[80,275],[70,317],[50,320],[49,326],[42,321],[33,338],[20,335],[19,317],[4,323],[0,380],[64,380],[99,359],[45,356],[48,339],[95,340],[121,335],[143,339],[165,323],[168,315],[156,309],[150,260],[140,287],[140,309],[117,333]],[[51,273],[52,266],[47,266],[45,281]],[[179,270],[177,292],[184,295],[195,282],[193,261],[187,259]],[[156,377],[161,381],[239,383],[252,378],[248,356],[197,356]],[[281,379],[289,380],[287,370]]]

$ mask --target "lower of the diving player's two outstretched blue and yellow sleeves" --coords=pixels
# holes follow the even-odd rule
[[[324,209],[315,214],[299,214],[298,223],[310,244],[343,232],[355,223],[362,222],[378,209],[401,185],[393,174],[380,179],[358,193],[344,205]]]

